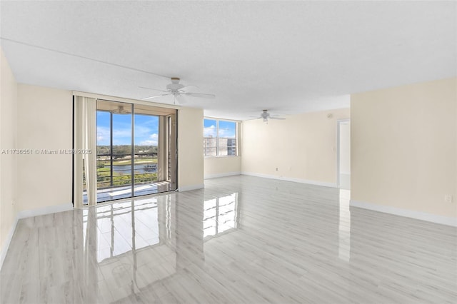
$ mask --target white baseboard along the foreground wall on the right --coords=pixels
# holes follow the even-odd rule
[[[447,226],[457,227],[457,218],[450,218],[448,216],[437,216],[436,214],[413,211],[402,208],[396,208],[391,206],[376,205],[373,203],[366,203],[361,201],[351,200],[351,207],[358,207],[368,209],[372,211],[379,211],[383,213],[390,213],[396,216],[404,216],[406,218],[416,218],[416,220],[428,221],[432,223],[438,223]]]

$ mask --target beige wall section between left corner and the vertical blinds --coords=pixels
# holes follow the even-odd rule
[[[41,149],[71,149],[72,104],[71,91],[18,86],[17,144],[34,150],[18,159],[19,211],[71,203],[71,154],[46,155]]]

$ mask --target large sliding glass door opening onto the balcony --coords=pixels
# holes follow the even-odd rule
[[[96,102],[97,202],[176,190],[176,110]]]

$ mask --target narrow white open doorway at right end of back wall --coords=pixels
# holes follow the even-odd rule
[[[337,128],[338,188],[351,190],[351,121],[339,120]]]

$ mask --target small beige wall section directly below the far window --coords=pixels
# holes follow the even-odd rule
[[[205,178],[241,173],[241,157],[206,157],[204,158]]]

